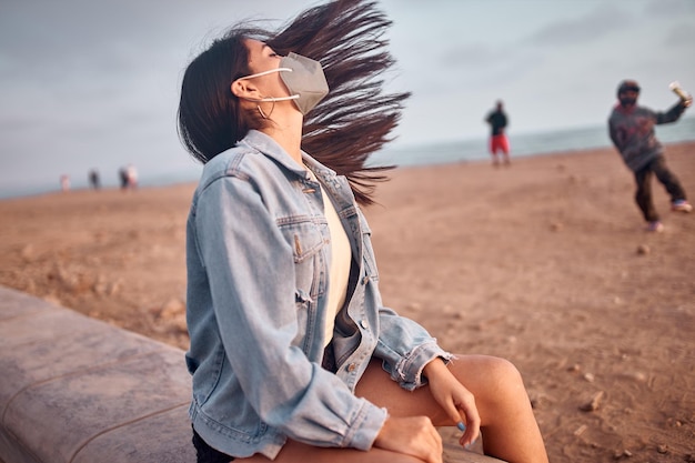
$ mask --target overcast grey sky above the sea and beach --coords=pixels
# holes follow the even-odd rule
[[[284,21],[302,0],[0,0],[0,185],[57,182],[134,162],[192,161],[175,133],[189,60],[241,19]],[[413,98],[395,145],[485,137],[506,103],[512,133],[605,123],[620,80],[641,102],[695,91],[693,0],[379,0]]]

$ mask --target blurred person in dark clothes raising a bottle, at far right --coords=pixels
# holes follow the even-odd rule
[[[638,105],[638,97],[639,84],[636,81],[624,80],[620,83],[618,101],[608,118],[608,132],[623,161],[635,174],[635,201],[647,222],[647,230],[661,232],[664,225],[652,199],[654,175],[671,195],[673,211],[691,212],[693,207],[687,202],[681,181],[666,165],[664,147],[654,134],[654,125],[677,121],[693,103],[693,98],[681,98],[668,111],[659,112]]]

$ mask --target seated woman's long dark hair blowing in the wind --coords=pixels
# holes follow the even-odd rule
[[[357,202],[370,204],[374,182],[392,167],[366,167],[371,153],[390,141],[409,93],[384,94],[382,76],[393,64],[383,39],[391,21],[363,0],[336,0],[299,14],[279,32],[234,28],[187,69],[179,105],[179,135],[205,163],[233,147],[251,129],[268,123],[244,111],[230,84],[250,74],[246,38],[278,53],[319,60],[330,92],[304,119],[302,149],[345,175]]]

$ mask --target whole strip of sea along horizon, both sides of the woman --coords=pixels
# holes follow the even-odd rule
[[[695,141],[695,117],[684,117],[677,123],[658,125],[656,135],[662,143]],[[508,133],[508,138],[512,158],[612,147],[605,124],[536,133],[515,133],[512,131]],[[187,154],[182,152],[181,155],[185,157]],[[369,163],[416,167],[483,160],[490,160],[487,138],[484,135],[452,142],[433,140],[432,142],[417,145],[386,145],[384,150],[374,153],[370,158]],[[141,187],[163,187],[174,183],[194,182],[200,177],[200,164],[193,162],[182,163],[180,167],[165,172],[141,170],[139,172],[139,184]],[[102,179],[102,182],[105,188],[117,187],[115,175],[112,179]],[[88,188],[87,179],[74,179],[72,183],[73,190],[84,188]],[[28,184],[21,188],[8,188],[0,184],[0,199],[41,194],[58,190],[57,179],[49,184]]]

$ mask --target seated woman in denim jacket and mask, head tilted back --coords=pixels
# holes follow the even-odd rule
[[[382,304],[357,204],[407,97],[371,79],[387,26],[339,0],[278,34],[233,29],[184,73],[179,132],[205,164],[187,230],[199,462],[440,463],[441,425],[547,461],[513,365],[452,355]]]

